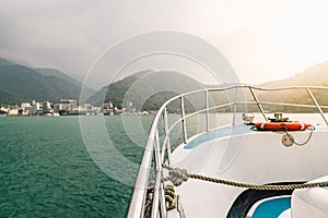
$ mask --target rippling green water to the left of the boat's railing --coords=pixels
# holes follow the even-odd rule
[[[116,148],[139,162],[143,149],[120,117],[105,119]],[[145,116],[144,125],[152,119]],[[125,166],[116,167],[125,173]],[[0,118],[0,217],[125,217],[131,192],[93,162],[78,117]]]

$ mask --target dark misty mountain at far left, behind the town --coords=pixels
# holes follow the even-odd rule
[[[40,73],[43,72],[43,74]],[[35,70],[0,58],[0,104],[80,98],[81,83],[56,70]]]

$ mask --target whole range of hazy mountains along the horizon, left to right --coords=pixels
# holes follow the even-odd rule
[[[328,74],[326,72],[328,72],[328,61],[313,65],[290,78],[256,86],[327,86]],[[0,58],[0,105],[16,105],[31,100],[56,102],[63,98],[79,99],[81,87],[81,82],[59,70],[37,69]],[[133,107],[137,110],[155,110],[159,109],[162,102],[176,94],[204,87],[209,86],[178,72],[149,70],[108,84],[99,88],[98,92],[86,88],[87,95],[85,95],[83,101],[96,106],[101,106],[104,101],[112,101],[118,108]],[[273,101],[291,99],[291,102],[305,102],[305,95],[295,96],[292,92],[284,92],[271,96],[262,94],[260,98],[268,97]],[[318,95],[320,100],[328,101],[326,95]],[[191,102],[187,100],[186,104]]]

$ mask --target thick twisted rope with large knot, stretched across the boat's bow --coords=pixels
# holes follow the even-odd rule
[[[327,186],[328,181],[324,182],[313,182],[313,183],[303,183],[303,184],[285,184],[285,185],[269,185],[269,184],[250,184],[250,183],[243,183],[243,182],[234,182],[230,180],[222,180],[211,177],[204,177],[201,174],[192,174],[188,173],[186,169],[180,168],[172,168],[166,165],[163,165],[163,168],[168,170],[169,180],[176,186],[180,185],[183,182],[190,179],[202,180],[207,182],[213,182],[230,186],[236,187],[244,187],[244,189],[251,189],[251,190],[274,190],[274,191],[285,191],[285,190],[297,190],[297,189],[309,189],[309,187],[320,187]]]

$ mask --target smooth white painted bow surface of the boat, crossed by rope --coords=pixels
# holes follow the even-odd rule
[[[304,142],[309,131],[291,134]],[[328,174],[326,129],[317,129],[304,146],[285,147],[282,135],[282,132],[254,131],[211,140],[192,149],[180,145],[172,154],[172,166],[189,173],[254,184],[306,182]],[[226,217],[244,191],[192,179],[176,187],[186,217],[191,218]]]

